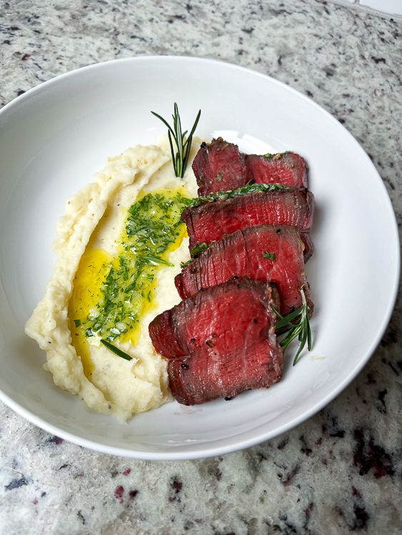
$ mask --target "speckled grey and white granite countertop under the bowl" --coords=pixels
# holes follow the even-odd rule
[[[144,54],[288,83],[361,143],[401,228],[401,22],[322,0],[9,0],[0,31],[1,106],[71,69]],[[400,294],[371,361],[325,409],[222,457],[99,454],[0,404],[0,533],[401,533],[401,305]]]

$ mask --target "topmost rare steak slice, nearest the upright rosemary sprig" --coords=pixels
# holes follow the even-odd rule
[[[222,138],[202,143],[193,162],[199,197],[219,190],[243,188],[250,180],[258,184],[286,184],[307,188],[307,165],[298,154],[243,154]]]

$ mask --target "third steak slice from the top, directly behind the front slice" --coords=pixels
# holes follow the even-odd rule
[[[274,255],[264,258],[264,255]],[[181,276],[180,276],[181,275]],[[297,228],[280,225],[254,225],[223,236],[201,253],[199,258],[176,276],[181,297],[188,297],[201,288],[215,286],[233,277],[249,277],[275,282],[281,300],[281,315],[288,315],[302,305],[302,286],[309,316],[313,302],[304,275],[303,243]]]

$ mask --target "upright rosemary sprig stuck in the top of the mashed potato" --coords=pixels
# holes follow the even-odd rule
[[[176,102],[174,103],[174,115],[173,117],[173,128],[167,123],[163,117],[158,115],[158,113],[155,113],[154,111],[151,111],[151,113],[161,119],[162,123],[164,123],[168,127],[168,136],[169,136],[169,143],[171,148],[171,159],[173,163],[174,168],[174,174],[175,176],[179,178],[184,177],[184,172],[186,171],[187,163],[189,163],[189,156],[191,151],[191,143],[193,141],[193,134],[196,131],[197,124],[199,123],[199,119],[201,116],[201,110],[199,111],[199,114],[196,117],[196,122],[194,123],[193,128],[191,129],[191,132],[189,134],[189,137],[184,141],[184,136],[186,136],[187,131],[182,132],[181,131],[181,121],[179,116],[179,108],[177,107]],[[173,143],[171,141],[171,138],[174,138],[174,142],[176,143],[177,152],[174,153]]]

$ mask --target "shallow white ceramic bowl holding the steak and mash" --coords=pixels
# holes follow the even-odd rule
[[[271,388],[198,407],[169,403],[121,425],[54,385],[24,323],[44,293],[64,201],[107,156],[165,133],[151,110],[179,104],[199,136],[249,153],[304,156],[316,196],[313,349]],[[46,431],[101,452],[194,459],[274,437],[311,417],[366,364],[393,310],[399,242],[381,178],[351,134],[313,101],[262,74],[184,57],[130,58],[42,83],[0,112],[0,397]],[[294,350],[293,350],[294,352]]]

